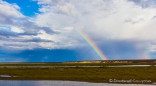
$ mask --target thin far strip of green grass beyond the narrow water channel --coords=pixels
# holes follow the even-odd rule
[[[156,63],[0,63],[0,66],[114,66],[156,65]]]

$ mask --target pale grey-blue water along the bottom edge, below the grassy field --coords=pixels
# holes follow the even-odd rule
[[[145,84],[108,84],[54,80],[0,80],[0,86],[154,86]]]

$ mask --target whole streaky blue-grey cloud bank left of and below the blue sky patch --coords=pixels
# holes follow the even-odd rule
[[[46,34],[58,34],[50,27],[37,25],[33,18],[27,17],[20,12],[17,4],[0,1],[0,46],[3,49],[34,49],[51,44],[52,40],[36,37]],[[48,48],[48,47],[44,47]]]

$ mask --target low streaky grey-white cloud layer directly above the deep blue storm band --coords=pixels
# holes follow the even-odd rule
[[[4,50],[25,50],[25,49],[36,49],[36,48],[49,48],[49,44],[52,45],[53,41],[41,39],[38,37],[3,37],[0,36],[0,47]],[[48,47],[46,46],[48,45]]]

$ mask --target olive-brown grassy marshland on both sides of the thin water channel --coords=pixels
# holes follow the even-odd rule
[[[99,68],[7,68],[7,66],[96,66],[102,65]],[[87,82],[102,82],[114,83],[111,80],[133,80],[131,82],[116,82],[116,83],[143,83],[151,84],[156,82],[156,66],[151,64],[149,67],[105,67],[109,65],[123,64],[102,64],[102,63],[68,63],[68,64],[0,64],[0,75],[10,75],[11,77],[0,77],[1,80],[70,80],[70,81],[87,81]],[[125,64],[124,64],[125,65]],[[128,64],[126,64],[128,65]],[[5,67],[6,66],[6,67]],[[137,80],[137,81],[136,81]],[[141,82],[141,80],[148,80]],[[149,80],[151,82],[149,82]]]

